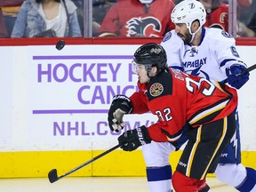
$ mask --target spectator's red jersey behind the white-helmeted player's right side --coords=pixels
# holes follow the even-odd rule
[[[216,9],[206,9],[204,27],[221,28],[228,32],[228,4],[220,4]]]

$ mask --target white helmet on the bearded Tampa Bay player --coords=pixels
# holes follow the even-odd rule
[[[181,1],[180,4],[177,4],[173,8],[171,13],[171,20],[173,23],[186,23],[189,33],[192,35],[192,32],[191,32],[192,22],[194,20],[199,20],[199,23],[200,23],[199,28],[202,28],[202,26],[206,21],[206,12],[204,9],[204,5],[196,0]]]

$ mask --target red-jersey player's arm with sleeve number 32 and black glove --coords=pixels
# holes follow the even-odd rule
[[[181,129],[181,127],[183,127],[181,125],[183,121],[182,119],[179,119],[179,121],[174,119],[174,116],[172,116],[174,114],[171,112],[171,106],[166,106],[164,104],[164,100],[168,99],[170,98],[160,97],[157,98],[154,103],[152,103],[152,105],[156,106],[155,115],[158,116],[158,121],[156,124],[152,124],[148,128],[145,125],[142,125],[136,129],[126,131],[120,137],[118,137],[119,144],[122,145],[121,148],[123,148],[125,151],[132,151],[142,145],[150,143],[151,140],[155,140],[156,142],[176,142],[181,138],[181,135],[184,132],[184,130]],[[155,110],[152,108],[150,109],[152,111]],[[181,113],[179,113],[179,111],[177,112],[177,116],[182,116],[180,115]]]

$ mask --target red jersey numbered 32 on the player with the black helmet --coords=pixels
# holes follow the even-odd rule
[[[236,90],[225,84],[170,69],[140,84],[131,96],[133,114],[151,111],[158,122],[148,127],[155,141],[179,140],[185,124],[196,127],[231,114],[237,106]]]

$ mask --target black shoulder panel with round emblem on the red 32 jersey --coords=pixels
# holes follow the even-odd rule
[[[172,74],[169,70],[154,77],[148,87],[148,100],[172,94]]]

